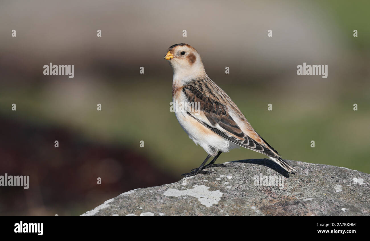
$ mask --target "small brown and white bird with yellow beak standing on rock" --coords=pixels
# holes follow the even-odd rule
[[[204,169],[225,167],[215,164],[222,152],[244,147],[265,154],[285,171],[296,171],[253,129],[231,98],[208,77],[201,56],[188,44],[175,44],[167,49],[174,76],[172,103],[176,118],[189,138],[200,145],[207,157],[198,168],[182,176],[211,174]],[[182,108],[181,108],[182,107]],[[213,156],[209,164],[205,165]]]

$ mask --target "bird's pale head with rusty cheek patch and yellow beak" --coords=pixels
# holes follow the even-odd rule
[[[175,44],[167,51],[164,58],[168,60],[177,78],[195,78],[205,74],[201,56],[195,48],[188,44]]]

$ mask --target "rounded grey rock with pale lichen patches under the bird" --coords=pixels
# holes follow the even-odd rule
[[[370,174],[288,163],[296,174],[269,159],[226,162],[208,169],[217,174],[125,192],[83,215],[369,215]]]

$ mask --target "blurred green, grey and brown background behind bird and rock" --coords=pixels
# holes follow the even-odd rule
[[[169,111],[172,69],[163,56],[169,46],[183,42],[198,50],[211,79],[283,158],[370,173],[369,8],[369,1],[334,0],[3,1],[0,175],[30,175],[33,166],[37,179],[49,172],[45,166],[54,166],[55,176],[36,183],[30,176],[24,193],[0,187],[10,197],[1,201],[0,214],[77,215],[122,192],[176,181],[199,166],[206,152]],[[74,64],[74,78],[44,76],[43,65],[50,62]],[[298,76],[296,67],[303,62],[328,65],[328,77]],[[69,144],[60,142],[62,151],[56,153],[54,140],[61,133],[68,133]],[[24,151],[25,145],[33,148]],[[68,190],[80,185],[62,202],[62,192],[51,191],[54,179],[94,168],[89,159],[94,155],[78,155],[80,145],[86,153],[97,147],[104,151],[95,156],[90,186],[73,178],[58,186],[69,196]],[[67,155],[72,149],[75,154]],[[34,152],[41,154],[30,163]],[[265,156],[234,149],[217,162],[250,158]],[[74,172],[79,163],[84,164]],[[109,172],[133,168],[135,175]],[[96,185],[96,176],[104,175],[117,176],[109,188]],[[85,189],[88,194],[80,192]]]

